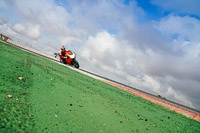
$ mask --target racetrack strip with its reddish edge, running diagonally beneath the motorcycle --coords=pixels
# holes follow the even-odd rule
[[[4,42],[4,43],[6,43],[6,42]],[[26,51],[26,52],[29,52],[29,53],[32,53],[32,54],[41,56],[41,57],[46,58],[46,59],[51,60],[51,61],[54,61],[54,62],[56,62],[56,63],[59,63],[60,65],[64,65],[64,66],[69,67],[69,68],[71,68],[71,69],[73,69],[73,70],[75,70],[75,71],[78,71],[78,72],[80,72],[80,73],[83,73],[83,74],[85,74],[85,75],[88,75],[88,76],[90,76],[90,77],[93,77],[93,78],[95,78],[95,79],[101,80],[102,82],[111,84],[111,85],[113,85],[113,86],[115,86],[115,87],[118,87],[118,88],[120,88],[120,89],[125,88],[125,89],[123,89],[123,90],[128,91],[129,93],[132,93],[132,94],[134,94],[134,95],[137,95],[136,93],[141,94],[141,95],[137,95],[137,96],[140,96],[140,97],[146,95],[147,97],[150,97],[150,99],[145,98],[145,97],[142,97],[142,98],[147,99],[147,100],[150,100],[150,101],[152,101],[152,102],[154,102],[154,103],[156,103],[156,104],[159,104],[159,105],[161,105],[161,106],[164,106],[164,107],[166,107],[166,108],[168,108],[168,109],[171,109],[171,110],[173,110],[173,111],[176,111],[176,112],[178,112],[178,113],[181,113],[181,114],[183,114],[183,115],[185,115],[185,116],[187,116],[187,117],[190,117],[190,118],[192,118],[192,119],[194,119],[194,120],[200,122],[200,111],[199,111],[199,110],[193,109],[193,108],[191,108],[191,107],[187,107],[187,106],[185,106],[185,105],[176,103],[176,102],[174,102],[174,101],[170,101],[170,100],[168,100],[168,99],[163,99],[163,98],[158,97],[158,96],[156,96],[156,95],[154,95],[154,94],[151,94],[151,93],[142,91],[142,90],[140,90],[140,89],[137,89],[137,88],[134,88],[134,87],[131,87],[131,86],[128,86],[128,85],[125,85],[125,84],[123,84],[123,83],[120,83],[120,82],[114,81],[114,80],[112,80],[112,79],[103,77],[103,76],[101,76],[101,75],[95,74],[95,73],[90,72],[90,71],[88,71],[88,70],[85,70],[85,69],[82,69],[82,68],[76,69],[76,68],[71,67],[71,66],[69,66],[69,65],[62,64],[62,63],[60,63],[58,60],[56,60],[56,59],[54,59],[54,58],[51,58],[51,57],[42,55],[42,54],[37,53],[37,52],[35,52],[35,51],[33,51],[33,50],[30,50],[29,48],[22,47],[22,46],[20,46],[19,44],[14,43],[13,41],[10,41],[9,43],[6,43],[6,44],[12,45],[12,46],[14,46],[14,47],[16,47],[16,48],[19,48],[19,49],[23,50],[23,51]],[[133,91],[135,91],[136,93],[133,93]],[[151,100],[151,99],[153,99],[153,100]],[[167,105],[169,105],[169,106],[171,106],[171,107],[162,105],[162,104],[160,104],[160,102],[155,102],[154,100],[155,100],[155,101],[160,101],[161,103],[165,103],[165,104],[167,104]],[[174,108],[176,108],[176,109],[174,109]]]

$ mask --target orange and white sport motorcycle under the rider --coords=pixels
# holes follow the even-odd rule
[[[57,55],[60,55],[59,53],[54,53],[54,54],[56,55],[55,57],[57,57]],[[79,63],[76,60],[76,54],[75,54],[75,52],[72,52],[71,50],[68,50],[65,53],[64,60],[62,60],[60,58],[60,62],[64,63],[64,64],[68,64],[68,65],[74,66],[75,68],[79,68]]]

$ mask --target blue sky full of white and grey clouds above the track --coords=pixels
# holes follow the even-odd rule
[[[200,110],[199,0],[1,0],[0,33]]]

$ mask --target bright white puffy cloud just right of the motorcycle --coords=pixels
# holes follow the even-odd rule
[[[81,48],[81,56],[101,69],[127,79],[135,87],[146,90],[152,88],[154,92],[159,92],[158,81],[141,71],[143,61],[149,59],[147,55],[115,35],[103,31],[94,37],[90,36]]]

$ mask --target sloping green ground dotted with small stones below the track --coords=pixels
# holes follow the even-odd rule
[[[0,42],[0,132],[199,133],[200,123]]]

